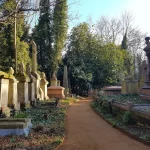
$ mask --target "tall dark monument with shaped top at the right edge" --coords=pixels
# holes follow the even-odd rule
[[[140,91],[140,96],[142,99],[150,99],[150,38],[145,38],[145,43],[147,46],[144,48],[144,51],[146,52],[147,60],[148,60],[148,73],[147,73],[147,79],[144,82],[144,85]]]

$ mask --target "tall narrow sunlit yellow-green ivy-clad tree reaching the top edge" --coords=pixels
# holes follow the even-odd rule
[[[55,64],[53,64],[53,68],[55,71],[58,69],[58,65],[61,62],[61,52],[64,48],[68,22],[67,22],[67,0],[56,0],[56,5],[54,7],[53,14],[53,32],[54,32],[54,56],[55,56]]]

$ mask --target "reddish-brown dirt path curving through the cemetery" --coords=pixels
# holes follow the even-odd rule
[[[101,119],[81,100],[69,107],[64,143],[57,150],[150,150]]]

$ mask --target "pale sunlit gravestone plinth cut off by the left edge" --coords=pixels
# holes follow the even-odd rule
[[[10,109],[8,108],[8,89],[9,79],[0,79],[0,108],[7,117],[10,116]]]

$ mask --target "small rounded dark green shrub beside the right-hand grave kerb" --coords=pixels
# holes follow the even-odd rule
[[[131,112],[130,111],[126,111],[124,114],[123,114],[123,123],[125,125],[131,125],[131,124],[135,124],[135,121],[134,119],[132,118],[132,115],[131,115]]]

